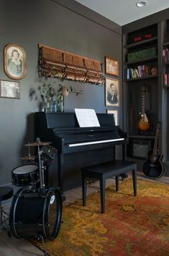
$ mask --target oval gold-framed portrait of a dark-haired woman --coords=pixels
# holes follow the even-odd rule
[[[9,43],[4,48],[4,69],[7,76],[14,80],[24,78],[26,74],[26,54],[21,46]]]

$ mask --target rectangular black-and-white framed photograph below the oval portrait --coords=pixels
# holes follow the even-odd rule
[[[0,97],[1,98],[20,98],[20,83],[16,81],[1,80]]]

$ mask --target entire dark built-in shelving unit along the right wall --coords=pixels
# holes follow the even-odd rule
[[[133,30],[126,27],[123,34],[124,131],[129,133],[127,156],[138,159],[138,168],[141,170],[145,150],[153,147],[157,122],[162,121],[158,149],[164,155],[166,175],[169,176],[169,20],[147,27],[144,24],[142,28],[138,26],[138,30],[136,25]],[[145,35],[151,38],[145,39]],[[140,51],[148,49],[155,51],[154,56],[148,56],[148,51],[143,51],[146,56],[139,56]],[[135,60],[131,59],[133,55],[136,55]],[[154,69],[150,68],[142,75],[140,66]],[[140,133],[138,119],[142,113],[142,88],[146,88],[144,108],[150,129]]]

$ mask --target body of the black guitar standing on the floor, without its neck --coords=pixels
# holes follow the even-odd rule
[[[143,174],[146,176],[156,179],[160,178],[165,174],[165,166],[162,163],[163,155],[159,154],[156,150],[155,155],[152,155],[152,150],[148,152],[148,158],[142,166]]]

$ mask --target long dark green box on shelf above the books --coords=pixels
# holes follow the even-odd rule
[[[127,54],[127,61],[137,61],[139,59],[155,57],[156,55],[156,47],[151,47],[145,50],[134,51],[133,53]]]

